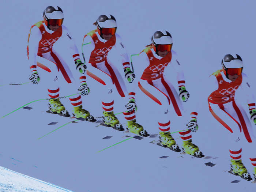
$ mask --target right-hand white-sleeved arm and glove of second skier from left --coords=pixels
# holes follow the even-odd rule
[[[115,47],[116,47],[117,51],[119,52],[119,54],[121,56],[121,60],[122,60],[121,62],[123,64],[123,68],[124,68],[125,79],[127,79],[127,81],[129,83],[132,83],[133,80],[135,79],[135,74],[131,70],[128,54],[127,54],[127,52],[126,52],[126,50],[124,48],[122,39],[121,39],[121,37],[118,34],[116,34],[116,44],[115,44]]]

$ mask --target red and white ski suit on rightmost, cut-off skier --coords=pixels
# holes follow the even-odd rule
[[[232,82],[226,78],[223,69],[213,73],[208,82],[208,86],[213,91],[208,97],[209,110],[214,118],[219,121],[229,132],[228,140],[230,147],[230,157],[234,160],[241,159],[241,144],[238,142],[243,139],[243,135],[249,143],[255,145],[255,135],[253,134],[252,124],[246,112],[241,105],[235,101],[236,90],[241,87],[246,94],[249,109],[255,109],[254,96],[251,93],[247,76],[242,73]],[[210,93],[209,92],[209,93]],[[253,153],[256,157],[256,153]],[[252,165],[256,167],[256,158],[250,158]]]

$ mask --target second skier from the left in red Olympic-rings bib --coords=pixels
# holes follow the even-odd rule
[[[127,87],[122,77],[124,76],[130,85],[135,75],[131,71],[128,54],[121,38],[116,33],[116,19],[112,15],[100,15],[93,25],[97,26],[97,29],[84,35],[82,45],[86,44],[83,53],[85,53],[85,60],[90,63],[87,75],[102,85],[103,122],[105,125],[119,131],[124,130],[123,125],[121,125],[113,113],[114,95],[112,90],[114,90],[113,86],[115,86],[121,97],[128,97],[128,103],[125,105],[127,111],[123,112],[127,120],[127,129],[137,135],[148,136],[147,131],[143,129],[142,125],[136,123],[135,110],[137,110],[137,107],[135,104],[135,93],[129,92],[127,94]],[[108,57],[108,53],[112,49],[115,49],[122,58],[123,75],[120,74],[117,67]]]

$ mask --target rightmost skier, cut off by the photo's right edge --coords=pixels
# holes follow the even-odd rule
[[[238,54],[226,54],[222,59],[222,69],[214,72],[209,78],[208,97],[209,110],[214,118],[219,121],[229,132],[231,170],[230,173],[239,175],[246,180],[252,180],[250,174],[242,163],[242,148],[240,139],[245,136],[249,143],[255,142],[252,125],[245,110],[235,102],[236,90],[241,87],[246,93],[249,114],[256,124],[256,109],[254,96],[247,76],[242,73],[243,61]],[[212,92],[212,90],[214,90]],[[244,134],[242,134],[242,132]],[[250,158],[254,167],[254,179],[256,180],[256,154]]]

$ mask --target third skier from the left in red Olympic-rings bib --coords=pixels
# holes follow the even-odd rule
[[[176,52],[172,50],[173,40],[168,31],[156,31],[151,41],[152,44],[147,45],[146,48],[140,52],[139,65],[134,66],[140,66],[141,69],[138,71],[143,72],[138,81],[138,86],[144,94],[153,99],[154,103],[158,103],[157,112],[159,112],[158,125],[160,131],[160,142],[158,145],[179,152],[180,147],[170,134],[169,111],[172,105],[178,116],[182,116],[184,113],[181,101],[187,102],[189,98],[189,93],[185,87],[184,73],[177,59]],[[165,67],[169,63],[177,72],[179,93],[177,93],[173,85],[163,74]],[[199,148],[192,143],[191,139],[191,131],[195,132],[198,129],[197,112],[191,112],[187,127],[189,128],[187,131],[179,132],[183,141],[183,150],[185,153],[195,157],[204,157]]]

